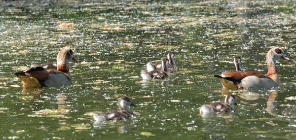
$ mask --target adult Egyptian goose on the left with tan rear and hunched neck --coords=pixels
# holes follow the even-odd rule
[[[30,70],[17,71],[15,74],[22,81],[23,87],[26,88],[70,85],[72,79],[69,70],[70,60],[77,62],[73,56],[73,51],[65,48],[57,56],[57,70],[33,67]]]

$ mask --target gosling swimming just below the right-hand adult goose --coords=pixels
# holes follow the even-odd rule
[[[209,105],[202,105],[199,109],[200,114],[203,113],[214,113],[214,112],[229,112],[234,109],[235,102],[234,95],[227,95],[225,98],[225,103],[216,102]]]

